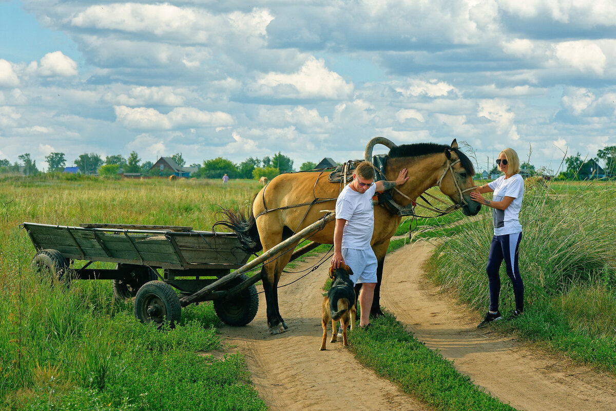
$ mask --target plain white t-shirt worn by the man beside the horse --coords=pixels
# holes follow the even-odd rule
[[[362,194],[347,184],[336,200],[336,219],[346,220],[342,231],[342,248],[368,250],[372,232],[375,229],[375,206],[372,197],[376,184]]]

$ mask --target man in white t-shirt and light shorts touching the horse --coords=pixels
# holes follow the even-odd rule
[[[378,264],[370,246],[375,227],[372,197],[377,191],[386,191],[407,182],[407,173],[407,169],[403,168],[395,181],[375,183],[375,169],[370,163],[362,161],[355,167],[353,181],[342,189],[336,200],[334,256],[331,266],[338,268],[341,262],[347,264],[353,271],[353,284],[362,284],[359,294],[359,307],[362,312],[359,326],[362,328],[370,325],[370,307],[375,294]]]

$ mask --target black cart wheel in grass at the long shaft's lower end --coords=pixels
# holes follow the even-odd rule
[[[145,283],[135,298],[135,317],[141,322],[155,322],[158,328],[165,321],[174,327],[182,317],[180,299],[171,285],[162,281]]]

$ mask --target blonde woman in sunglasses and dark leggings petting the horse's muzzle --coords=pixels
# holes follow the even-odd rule
[[[524,284],[517,266],[520,240],[522,239],[522,226],[519,221],[522,197],[524,196],[524,179],[520,173],[520,160],[513,149],[505,149],[498,155],[496,165],[504,176],[495,181],[482,185],[477,192],[471,193],[471,198],[478,203],[492,207],[494,219],[494,237],[490,245],[488,265],[485,271],[488,274],[490,285],[490,309],[484,320],[477,325],[485,327],[489,322],[502,319],[498,311],[500,297],[500,276],[498,270],[501,262],[505,260],[507,275],[513,283],[513,293],[516,299],[516,309],[511,317],[524,314]],[[494,192],[492,200],[485,200],[481,193]]]

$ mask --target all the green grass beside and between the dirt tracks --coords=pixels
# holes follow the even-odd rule
[[[260,187],[252,181],[231,181],[225,188],[219,181],[204,180],[0,180],[0,404],[11,410],[265,409],[249,383],[241,354],[221,358],[216,333],[220,322],[210,304],[183,309],[181,327],[158,332],[134,319],[131,303],[115,301],[107,281],[75,282],[67,290],[36,277],[30,268],[34,248],[18,229],[20,222],[30,221],[207,230],[216,221],[219,205],[248,205]],[[612,372],[613,189],[600,183],[527,190],[521,252],[521,269],[528,273],[527,315],[500,326],[503,332]],[[490,214],[482,213],[485,219],[474,222],[462,220],[460,213],[409,219],[397,233],[412,227],[412,240],[444,239],[429,262],[434,280],[481,311],[487,306],[484,267],[492,235]],[[392,241],[389,251],[408,241]],[[328,250],[323,245],[315,252]],[[457,258],[447,258],[453,250]],[[513,299],[510,288],[503,281],[505,309]],[[395,332],[351,336],[355,355],[426,404],[452,410],[468,404],[510,409],[455,373],[447,360],[408,335],[392,315],[375,325]],[[384,351],[395,355],[379,354]],[[401,366],[399,358],[408,361]],[[411,361],[415,358],[419,360]],[[425,372],[433,376],[432,384],[412,377]],[[442,390],[448,394],[440,395]]]

